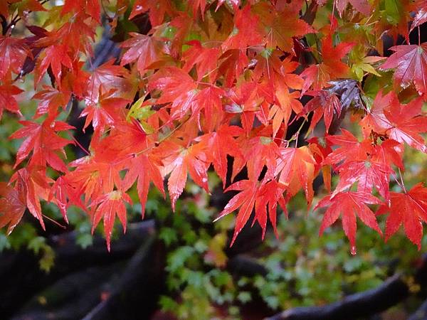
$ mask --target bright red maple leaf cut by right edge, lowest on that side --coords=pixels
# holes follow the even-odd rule
[[[405,193],[390,193],[391,205],[381,206],[377,212],[379,215],[390,212],[386,220],[386,240],[389,240],[391,235],[394,235],[403,224],[406,236],[420,250],[423,237],[421,221],[427,223],[426,199],[427,188],[423,186],[423,183],[416,184]]]

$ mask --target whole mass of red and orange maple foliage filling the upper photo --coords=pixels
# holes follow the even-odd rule
[[[386,214],[385,239],[403,225],[420,247],[427,188],[406,190],[403,154],[427,152],[427,43],[409,41],[426,1],[52,2],[0,1],[0,117],[13,112],[22,125],[11,135],[21,139],[14,174],[0,183],[0,228],[10,233],[27,209],[45,228],[41,201],[65,221],[73,205],[93,229],[103,220],[110,250],[134,184],[143,214],[150,185],[174,209],[189,178],[209,193],[211,167],[238,191],[218,215],[236,212],[231,243],[253,212],[264,235],[298,192],[310,206],[320,175],[320,234],[341,217],[355,253],[357,219],[382,235],[376,215]],[[114,33],[141,16],[149,31],[125,31],[120,57],[90,67],[102,21]],[[406,44],[385,57],[384,39],[399,35]],[[24,119],[16,80],[31,74],[38,107]],[[66,117],[73,100],[83,130],[93,127],[80,159],[64,150],[78,144]]]

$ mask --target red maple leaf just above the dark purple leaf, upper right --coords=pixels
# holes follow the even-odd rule
[[[322,39],[322,63],[310,65],[301,73],[301,77],[305,79],[302,93],[306,92],[310,87],[313,90],[321,90],[323,87],[329,86],[328,82],[337,78],[343,78],[349,74],[349,67],[342,63],[341,59],[349,53],[354,43],[339,43],[337,46],[332,46],[332,36],[328,34]]]

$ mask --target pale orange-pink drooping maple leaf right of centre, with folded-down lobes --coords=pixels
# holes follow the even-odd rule
[[[312,183],[315,178],[315,165],[310,149],[307,146],[300,148],[281,148],[280,158],[275,169],[275,176],[279,182],[287,187],[287,191],[295,195],[302,188],[307,198],[307,203],[312,202]]]

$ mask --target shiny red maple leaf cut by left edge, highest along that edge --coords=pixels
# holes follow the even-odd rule
[[[31,56],[31,51],[26,41],[0,36],[0,79],[3,80],[9,71],[19,75],[28,55]]]

